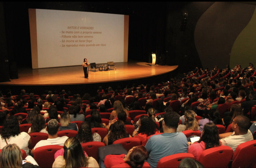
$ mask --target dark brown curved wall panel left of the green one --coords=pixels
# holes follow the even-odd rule
[[[204,69],[230,64],[230,53],[237,36],[246,27],[255,5],[215,2],[195,27],[195,46]]]

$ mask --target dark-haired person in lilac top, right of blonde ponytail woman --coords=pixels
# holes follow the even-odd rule
[[[202,132],[203,129],[204,129],[204,125],[208,122],[213,122],[215,123],[216,125],[217,124],[220,124],[222,125],[222,119],[220,117],[220,113],[217,109],[212,109],[210,110],[209,114],[207,114],[205,116],[206,118],[204,119],[199,119],[197,120],[198,122],[198,125],[199,125],[199,130]]]

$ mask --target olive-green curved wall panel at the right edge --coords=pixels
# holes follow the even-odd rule
[[[230,67],[240,64],[242,68],[249,63],[256,64],[256,10],[244,30],[237,37],[230,55]]]

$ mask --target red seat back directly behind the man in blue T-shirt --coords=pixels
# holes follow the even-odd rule
[[[160,167],[179,167],[179,164],[181,162],[182,159],[184,158],[191,158],[191,159],[195,159],[194,155],[191,153],[176,153],[173,155],[169,155],[169,156],[165,156],[163,158],[161,158],[158,163],[157,163],[157,168]]]

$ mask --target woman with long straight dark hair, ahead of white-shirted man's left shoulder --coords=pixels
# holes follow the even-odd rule
[[[34,116],[31,122],[31,127],[28,129],[28,133],[32,132],[44,132],[48,134],[48,132],[46,131],[44,117],[41,114],[36,114]]]

